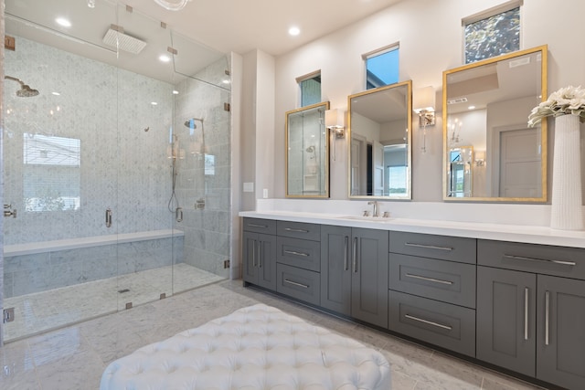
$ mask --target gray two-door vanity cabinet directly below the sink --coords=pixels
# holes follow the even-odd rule
[[[321,306],[388,328],[388,231],[321,227]]]

